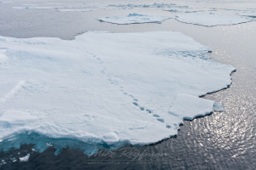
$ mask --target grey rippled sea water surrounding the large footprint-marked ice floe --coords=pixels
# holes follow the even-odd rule
[[[235,66],[236,72],[230,88],[204,97],[221,102],[225,111],[184,121],[176,137],[143,147],[100,150],[92,156],[68,148],[55,156],[53,147],[38,153],[32,151],[32,144],[22,145],[0,153],[0,160],[8,162],[0,169],[256,169],[256,22],[210,28],[176,20],[116,26],[97,22],[95,18],[104,15],[101,11],[56,14],[1,5],[1,36],[70,39],[91,30],[181,31],[212,48],[212,59]],[[27,153],[29,161],[11,160]]]

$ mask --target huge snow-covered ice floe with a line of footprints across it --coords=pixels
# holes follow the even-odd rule
[[[230,85],[234,67],[208,51],[171,31],[0,37],[1,146],[166,139],[183,118],[212,111],[214,102],[198,96]]]

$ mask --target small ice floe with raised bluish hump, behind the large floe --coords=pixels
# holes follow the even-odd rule
[[[100,21],[109,22],[113,24],[125,25],[125,24],[141,24],[141,23],[161,23],[163,20],[171,19],[167,16],[153,16],[147,14],[128,14],[125,17],[105,17],[98,19]]]

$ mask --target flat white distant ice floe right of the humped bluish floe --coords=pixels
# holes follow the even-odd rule
[[[199,26],[230,26],[252,21],[248,17],[239,15],[225,15],[212,13],[177,14],[176,20]]]

